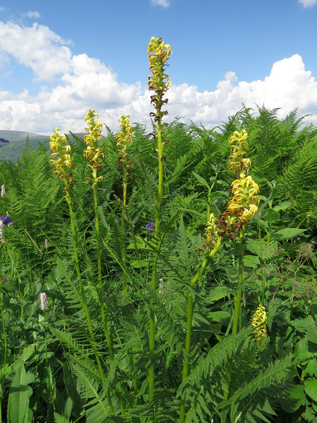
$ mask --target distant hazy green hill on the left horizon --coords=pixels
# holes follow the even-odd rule
[[[40,143],[46,142],[46,147],[49,148],[49,135],[38,135],[24,131],[0,130],[0,138],[9,140],[9,143],[0,142],[0,160],[11,160],[11,162],[15,163],[18,158],[22,156],[21,149],[25,148],[27,135],[29,135],[30,143],[35,148],[38,147],[38,141]],[[83,137],[85,133],[76,133],[76,135]]]

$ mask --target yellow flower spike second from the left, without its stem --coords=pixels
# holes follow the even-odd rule
[[[98,119],[98,114],[95,113],[95,110],[91,109],[87,112],[85,117],[85,122],[88,121],[88,127],[85,128],[87,135],[84,136],[84,141],[87,144],[87,150],[84,151],[84,156],[89,159],[88,168],[99,168],[102,167],[102,159],[104,157],[104,153],[102,149],[97,147],[97,143],[101,140],[101,132],[102,132],[102,122],[95,122],[94,118]]]

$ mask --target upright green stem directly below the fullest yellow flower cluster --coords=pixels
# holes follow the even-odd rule
[[[239,267],[238,267],[238,286],[237,286],[237,295],[235,297],[235,310],[233,313],[233,323],[232,323],[232,335],[237,333],[238,330],[238,321],[240,315],[240,302],[242,296],[242,289],[241,284],[243,282],[243,252],[244,252],[244,242],[243,242],[243,231],[240,232],[240,240],[239,240]],[[228,399],[229,395],[229,385],[231,379],[231,371],[232,371],[232,363],[233,363],[233,356],[228,359],[227,362],[227,373],[226,373],[226,380],[225,380],[225,387],[224,390],[224,399]]]

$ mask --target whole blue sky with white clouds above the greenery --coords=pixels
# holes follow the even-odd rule
[[[151,36],[173,52],[171,119],[212,127],[243,102],[317,124],[316,18],[317,0],[0,2],[0,129],[82,132],[89,108],[149,122]]]

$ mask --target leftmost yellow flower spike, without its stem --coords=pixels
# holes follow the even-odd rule
[[[69,154],[71,151],[71,146],[67,143],[67,139],[65,134],[58,135],[59,128],[53,129],[54,134],[50,136],[50,143],[49,147],[53,150],[51,154],[52,160],[50,160],[52,165],[55,165],[55,172],[56,176],[60,176],[60,179],[63,179],[65,184],[64,192],[68,191],[70,187],[73,186],[71,181],[73,179],[73,175],[67,172],[67,168],[72,168],[73,163],[71,162],[71,155]]]

